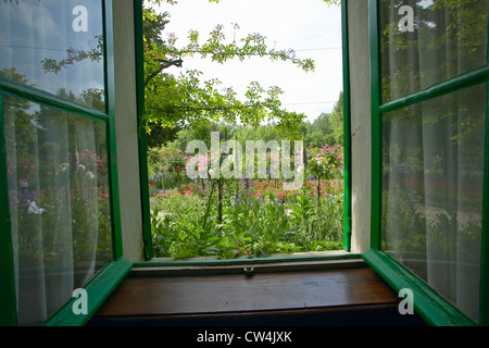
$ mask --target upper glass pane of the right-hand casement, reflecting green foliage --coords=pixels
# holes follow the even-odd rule
[[[489,1],[379,5],[384,102],[487,64]]]

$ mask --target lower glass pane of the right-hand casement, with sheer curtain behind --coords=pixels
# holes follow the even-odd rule
[[[486,85],[384,116],[383,247],[478,320]]]

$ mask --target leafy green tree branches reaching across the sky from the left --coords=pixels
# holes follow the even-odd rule
[[[175,76],[165,72],[170,66],[180,67],[186,58],[196,55],[223,64],[231,59],[243,61],[250,57],[262,57],[273,61],[290,61],[309,72],[314,70],[310,59],[299,59],[293,50],[268,48],[265,37],[250,34],[239,41],[227,41],[224,27],[217,25],[210,37],[201,42],[200,34],[190,30],[190,44],[177,47],[177,38],[162,38],[168,13],[156,13],[154,4],[173,1],[148,0],[143,8],[145,22],[145,126],[150,134],[155,127],[166,130],[189,127],[200,123],[237,123],[259,126],[262,122],[276,121],[276,130],[287,136],[299,134],[305,115],[290,112],[281,107],[283,90],[273,86],[264,89],[253,82],[248,86],[244,99],[239,100],[231,87],[220,89],[218,79],[202,82],[201,72],[188,71]],[[211,1],[218,2],[218,1]],[[237,27],[235,27],[237,28]]]

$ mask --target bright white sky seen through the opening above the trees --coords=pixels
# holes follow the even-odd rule
[[[231,86],[238,95],[243,95],[251,82],[259,82],[265,90],[278,86],[284,90],[283,107],[306,114],[310,121],[330,112],[338,100],[342,90],[340,7],[328,8],[322,0],[221,0],[217,4],[179,0],[160,10],[170,13],[165,32],[175,33],[177,47],[188,42],[190,29],[199,32],[203,42],[221,24],[227,42],[259,33],[266,37],[269,48],[293,49],[297,57],[315,62],[314,72],[304,72],[289,61],[266,58],[224,64],[210,59],[185,59],[183,69],[201,71],[202,79],[218,78],[223,88]],[[239,25],[238,30],[234,29],[235,24]],[[179,74],[177,67],[166,72]]]

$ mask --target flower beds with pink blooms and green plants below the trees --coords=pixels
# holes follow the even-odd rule
[[[288,190],[286,179],[274,178],[269,170],[265,178],[191,179],[185,171],[191,156],[178,148],[152,149],[149,159],[155,257],[230,259],[342,249],[339,145],[310,144],[304,149],[303,183]]]

